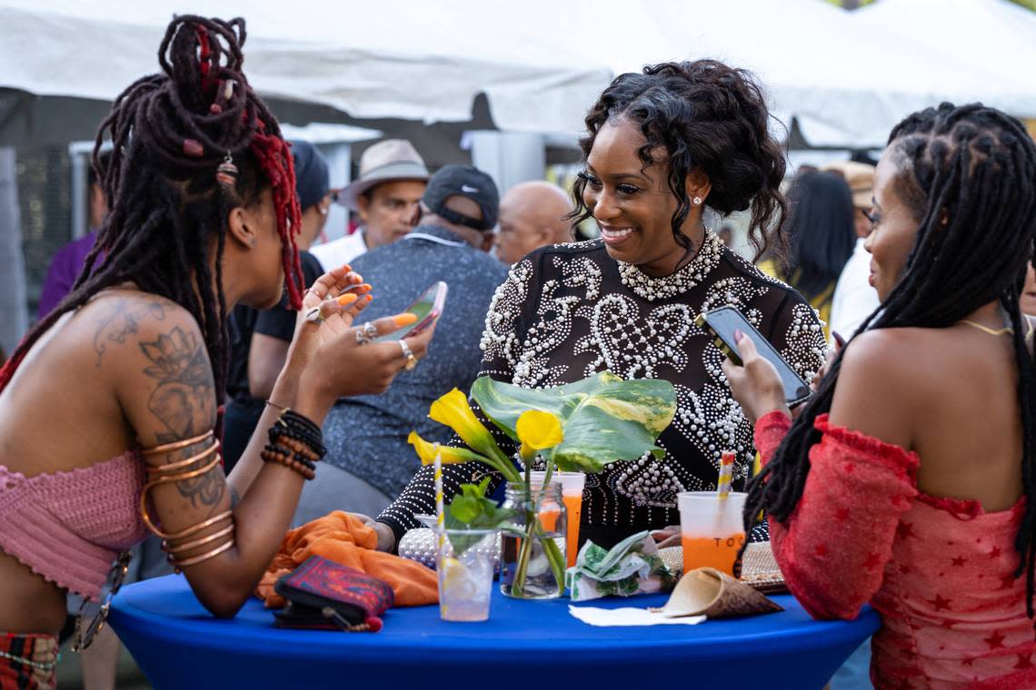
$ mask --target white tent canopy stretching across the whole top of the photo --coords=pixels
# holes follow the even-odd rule
[[[0,0],[0,86],[112,98],[157,68],[173,13],[200,0]],[[982,100],[1036,116],[1036,16],[1006,0],[224,0],[248,19],[260,92],[355,118],[466,121],[574,139],[615,73],[716,57],[755,71],[810,144],[881,146],[903,115]]]

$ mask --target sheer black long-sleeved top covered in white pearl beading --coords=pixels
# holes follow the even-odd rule
[[[545,388],[608,369],[626,379],[665,379],[677,390],[677,415],[659,437],[665,457],[651,454],[588,475],[584,524],[629,532],[679,524],[677,493],[716,488],[723,450],[737,452],[735,487],[754,458],[752,426],[730,396],[722,353],[694,325],[702,311],[733,305],[805,379],[824,361],[822,322],[792,288],[767,276],[707,233],[680,271],[651,277],[611,259],[601,240],[538,249],[515,264],[497,290],[482,336],[481,374]],[[515,444],[495,430],[500,447]],[[459,440],[455,443],[460,443]],[[485,466],[443,468],[443,493],[493,477]],[[424,467],[378,519],[397,539],[420,527],[414,513],[434,513],[432,468]]]

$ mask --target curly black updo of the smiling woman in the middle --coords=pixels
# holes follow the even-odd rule
[[[667,181],[677,199],[672,235],[688,258],[695,247],[681,232],[691,210],[684,185],[695,170],[708,176],[712,189],[706,205],[720,215],[751,207],[749,238],[758,256],[775,240],[783,245],[784,155],[770,134],[770,111],[750,72],[695,60],[620,74],[586,114],[586,136],[579,141],[583,159],[601,127],[623,119],[636,123],[648,140],[638,151],[645,168],[655,162],[653,150],[667,153]],[[582,199],[585,186],[580,178],[573,187],[576,223],[592,215]]]

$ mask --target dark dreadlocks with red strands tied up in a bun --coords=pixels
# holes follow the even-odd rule
[[[227,220],[232,209],[258,204],[267,189],[277,213],[289,300],[296,309],[301,305],[294,240],[301,223],[291,153],[277,120],[241,72],[244,37],[241,19],[177,17],[159,49],[162,72],[138,80],[115,99],[93,151],[110,212],[71,292],[26,334],[0,369],[0,391],[62,314],[123,282],[191,312],[205,337],[215,390],[223,391]],[[113,150],[102,166],[106,137]],[[229,184],[220,171],[228,156],[237,168]]]

